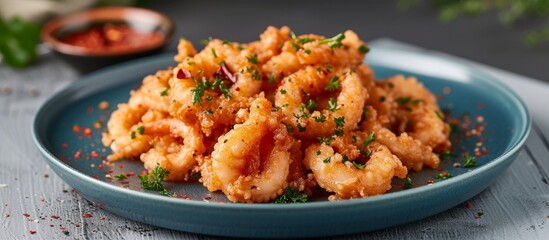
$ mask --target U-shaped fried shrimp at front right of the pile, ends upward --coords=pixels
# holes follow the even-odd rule
[[[368,145],[366,163],[346,160],[346,156],[325,144],[313,144],[305,150],[305,166],[313,171],[318,185],[335,193],[331,200],[368,197],[391,189],[393,177],[406,177],[407,170],[387,147]]]

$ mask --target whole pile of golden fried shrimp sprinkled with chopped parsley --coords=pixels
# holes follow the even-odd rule
[[[353,31],[268,27],[246,44],[177,49],[177,66],[145,77],[110,116],[110,161],[160,166],[167,181],[200,173],[232,202],[317,187],[334,201],[383,194],[394,177],[437,168],[451,146],[435,96],[413,77],[375,80]]]

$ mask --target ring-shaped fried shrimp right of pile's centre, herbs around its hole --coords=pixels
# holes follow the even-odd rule
[[[335,79],[335,80],[334,80]],[[334,82],[337,81],[337,86]],[[284,79],[276,93],[275,104],[281,106],[284,121],[298,129],[304,138],[333,135],[336,130],[355,129],[362,116],[364,102],[368,98],[366,89],[351,69],[344,69],[333,75],[324,75],[314,67],[306,67]],[[316,110],[305,103],[315,103],[322,93],[340,89],[339,95],[328,100],[327,108]],[[305,97],[309,100],[306,101]],[[320,101],[319,106],[321,104]]]

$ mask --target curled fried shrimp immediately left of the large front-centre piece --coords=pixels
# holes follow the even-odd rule
[[[161,166],[170,172],[167,180],[187,180],[197,164],[197,157],[206,150],[198,128],[179,120],[166,118],[143,125],[144,134],[159,136],[152,149],[141,155],[149,171]]]

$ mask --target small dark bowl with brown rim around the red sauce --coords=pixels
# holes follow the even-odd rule
[[[64,42],[73,34],[106,24],[127,25],[134,32],[160,33],[162,37],[159,41],[152,43],[142,41],[144,43],[142,45],[99,50]],[[115,63],[159,53],[170,43],[173,33],[173,22],[161,13],[142,8],[105,7],[51,20],[42,29],[42,39],[54,53],[80,73],[88,73]]]

